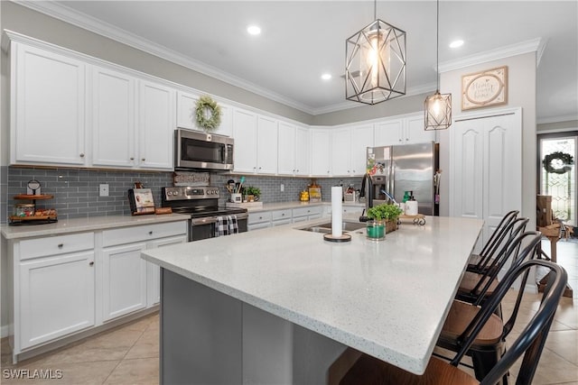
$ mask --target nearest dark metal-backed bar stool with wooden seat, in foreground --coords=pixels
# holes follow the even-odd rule
[[[457,366],[463,356],[471,349],[471,345],[479,337],[489,319],[494,316],[495,308],[499,306],[502,298],[508,293],[508,289],[512,287],[520,276],[527,277],[527,272],[536,266],[543,266],[553,272],[542,297],[540,307],[516,341],[509,346],[508,351],[504,353],[499,362],[479,382],[458,369]],[[500,282],[495,295],[489,298],[488,302],[480,308],[480,311],[462,335],[461,347],[451,362],[432,357],[424,374],[415,375],[364,353],[359,353],[359,358],[351,362],[350,357],[354,356],[351,353],[353,349],[348,349],[331,366],[328,373],[328,383],[330,385],[452,385],[479,383],[494,385],[502,380],[514,362],[517,362],[518,358],[523,356],[521,366],[517,372],[516,383],[519,385],[530,384],[544,349],[546,336],[554,320],[556,307],[564,293],[566,281],[565,270],[555,263],[541,260],[525,261],[517,268],[508,271],[508,275]],[[520,290],[520,292],[522,293],[523,290]],[[342,358],[344,359],[342,360]]]

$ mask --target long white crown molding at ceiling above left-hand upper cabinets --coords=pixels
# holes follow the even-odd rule
[[[53,2],[34,2],[22,0],[10,1],[12,1],[14,4],[23,5],[27,8],[30,8],[33,11],[40,12],[41,14],[46,14],[55,19],[59,19],[62,22],[70,23],[89,32],[94,32],[114,41],[121,42],[137,50],[143,50],[146,53],[154,55],[163,60],[171,61],[172,63],[199,72],[203,75],[209,76],[210,78],[218,79],[232,86],[243,88],[256,95],[264,96],[268,99],[274,100],[275,102],[293,107],[306,114],[315,115],[314,109],[308,105],[303,105],[303,103],[277,94],[264,87],[257,86],[256,84],[248,82],[245,79],[238,78],[229,74],[228,72],[209,66],[200,62],[199,60],[194,60],[174,50],[168,50],[167,48],[156,44],[153,41],[148,41],[140,36],[135,35],[134,33],[127,32],[112,24],[102,22],[87,14],[74,11],[65,5]]]

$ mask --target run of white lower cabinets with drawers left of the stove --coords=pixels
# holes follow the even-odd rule
[[[158,304],[159,267],[141,252],[185,242],[186,220],[9,240],[14,359]]]

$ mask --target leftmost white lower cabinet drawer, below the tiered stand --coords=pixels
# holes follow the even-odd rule
[[[94,249],[94,234],[68,234],[30,239],[20,243],[20,261]]]

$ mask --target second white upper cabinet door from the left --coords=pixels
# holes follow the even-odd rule
[[[135,78],[94,67],[92,164],[133,167],[135,150]]]

